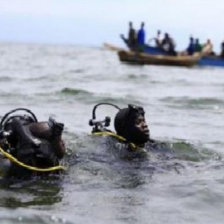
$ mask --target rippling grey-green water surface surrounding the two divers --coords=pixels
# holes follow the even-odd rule
[[[224,69],[134,66],[75,45],[0,44],[0,116],[17,107],[65,124],[68,170],[0,182],[0,223],[222,224]],[[95,104],[144,107],[167,150],[125,160],[91,136]],[[101,106],[97,117],[113,118]]]

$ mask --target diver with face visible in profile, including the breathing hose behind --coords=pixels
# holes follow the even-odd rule
[[[118,109],[114,118],[115,132],[108,129],[110,117],[104,120],[96,120],[96,108],[100,105],[111,105]],[[145,111],[142,107],[129,104],[127,108],[120,109],[110,103],[99,103],[93,108],[92,119],[89,122],[93,126],[93,135],[111,136],[116,139],[115,148],[118,148],[120,157],[141,157],[145,156],[146,144],[155,144],[155,140],[150,138],[150,131],[145,121]],[[150,148],[147,146],[147,148]]]

